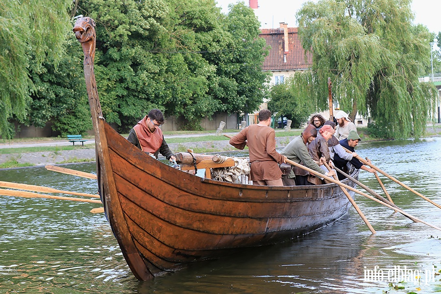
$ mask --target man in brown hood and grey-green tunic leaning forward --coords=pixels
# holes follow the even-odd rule
[[[308,124],[308,126],[303,130],[302,134],[294,138],[294,140],[292,140],[290,143],[288,143],[288,145],[282,150],[282,152],[280,152],[280,154],[285,155],[288,159],[294,161],[295,163],[301,163],[316,172],[320,172],[327,176],[333,176],[335,175],[335,172],[323,171],[319,167],[319,165],[311,158],[311,155],[308,152],[307,144],[311,143],[316,137],[316,127],[312,124]],[[282,176],[283,185],[311,185],[311,183],[306,180],[307,175],[308,172],[305,172],[304,175],[296,176],[293,169],[287,175]]]

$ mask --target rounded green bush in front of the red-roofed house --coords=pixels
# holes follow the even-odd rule
[[[268,109],[276,114],[276,118],[286,117],[291,120],[291,127],[300,127],[308,121],[309,115],[315,110],[314,100],[309,98],[309,87],[304,85],[312,82],[310,72],[297,72],[293,77],[271,88]]]

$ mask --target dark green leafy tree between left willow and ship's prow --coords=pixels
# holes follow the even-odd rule
[[[72,33],[63,46],[58,66],[48,56],[39,72],[31,71],[35,91],[31,95],[26,123],[43,127],[52,121],[62,136],[85,134],[92,128],[89,103],[81,66],[82,51]]]

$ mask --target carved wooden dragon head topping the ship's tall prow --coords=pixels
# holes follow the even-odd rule
[[[84,65],[92,65],[95,59],[95,21],[90,17],[82,17],[75,22],[72,30],[83,47]]]

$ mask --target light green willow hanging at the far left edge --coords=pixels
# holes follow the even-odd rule
[[[57,60],[70,29],[72,0],[0,1],[0,136],[12,135],[8,119],[24,121],[33,84],[46,54]]]

